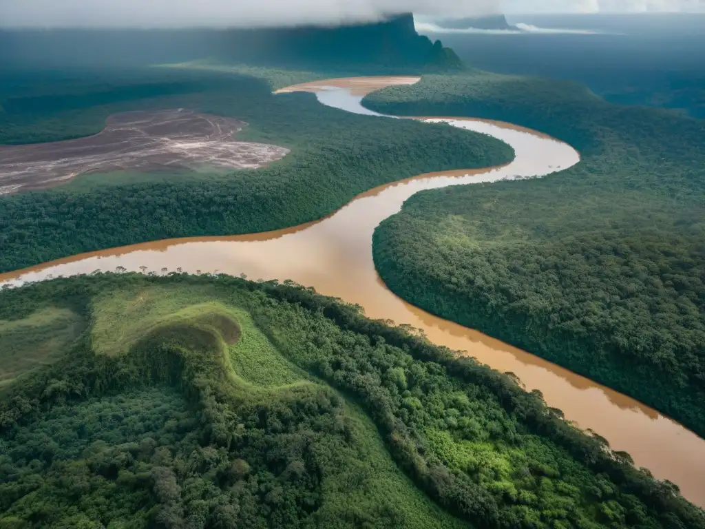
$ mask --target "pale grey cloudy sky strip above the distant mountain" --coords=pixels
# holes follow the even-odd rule
[[[494,13],[682,11],[705,0],[0,0],[0,27],[188,28],[335,24],[388,13],[482,16]]]

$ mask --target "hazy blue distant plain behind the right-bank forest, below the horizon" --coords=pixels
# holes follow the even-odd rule
[[[705,22],[705,18],[701,18]],[[509,75],[573,80],[615,104],[673,109],[705,118],[705,33],[658,35],[443,35],[460,59]],[[609,57],[606,60],[606,57]]]

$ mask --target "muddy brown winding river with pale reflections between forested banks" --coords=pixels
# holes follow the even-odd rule
[[[360,104],[372,90],[417,78],[355,78],[305,83],[280,90],[315,92],[331,107],[376,115]],[[378,117],[379,118],[379,117]],[[515,160],[479,171],[422,174],[358,195],[319,221],[289,229],[230,237],[181,238],[143,243],[47,262],[1,274],[0,281],[20,284],[52,276],[85,274],[116,267],[164,272],[223,272],[250,279],[293,279],[319,293],[364,307],[372,318],[384,318],[423,329],[439,345],[467,351],[503,372],[513,372],[529,390],[539,389],[549,406],[565,418],[605,437],[615,450],[629,452],[637,466],[680,486],[682,494],[705,506],[705,440],[677,422],[623,394],[596,384],[537,356],[484,334],[415,308],[384,286],[372,262],[372,233],[386,217],[420,190],[456,184],[544,176],[580,161],[563,142],[532,130],[465,118],[419,118],[446,121],[507,142]]]

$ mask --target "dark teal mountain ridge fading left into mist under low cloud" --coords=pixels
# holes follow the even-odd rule
[[[326,71],[462,68],[452,50],[416,32],[410,14],[331,28],[0,31],[0,66],[134,66],[204,58]]]

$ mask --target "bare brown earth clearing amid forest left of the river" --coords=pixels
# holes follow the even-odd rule
[[[0,147],[0,195],[59,186],[86,173],[255,169],[289,152],[236,140],[235,133],[245,125],[185,109],[114,114],[94,136]]]

